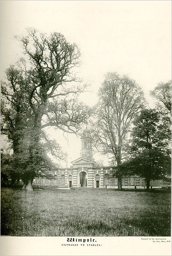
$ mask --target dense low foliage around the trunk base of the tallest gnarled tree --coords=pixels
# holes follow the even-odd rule
[[[33,133],[33,130],[28,129],[19,141],[20,150],[11,157],[11,164],[13,165],[15,172],[20,174],[20,177],[24,182],[23,189],[27,187],[28,190],[32,190],[32,182],[35,177],[46,177],[47,179],[53,177],[49,172],[41,172],[41,167],[45,167],[45,169],[48,169],[49,171],[59,167],[58,164],[53,164],[48,157],[47,153],[49,153],[49,151],[51,151],[52,155],[65,159],[65,154],[57,143],[54,143],[47,137],[44,139],[41,133],[40,142],[35,144],[34,136],[35,134]],[[29,152],[31,150],[32,155],[30,155]],[[56,151],[58,151],[57,154]],[[28,179],[31,179],[30,183],[28,183]]]

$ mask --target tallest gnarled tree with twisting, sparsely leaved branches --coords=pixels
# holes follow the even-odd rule
[[[75,43],[68,43],[62,34],[54,32],[47,36],[36,29],[28,29],[27,36],[18,39],[24,48],[24,56],[15,66],[8,69],[7,81],[2,89],[3,96],[10,104],[10,108],[7,107],[3,111],[2,131],[8,136],[11,134],[13,145],[18,145],[16,154],[22,163],[21,166],[24,163],[23,159],[27,158],[25,171],[18,170],[25,176],[23,180],[26,188],[32,189],[33,176],[38,171],[34,169],[35,164],[38,163],[40,166],[45,162],[45,158],[41,159],[44,152],[41,140],[43,137],[45,139],[42,129],[54,126],[64,132],[77,134],[83,122],[89,118],[88,107],[77,98],[87,85],[82,84],[72,71],[80,64],[80,51]],[[18,95],[22,95],[22,104],[19,103]],[[14,101],[17,105],[24,106],[24,109],[21,109],[19,127],[16,126],[15,118],[14,122],[8,121],[11,119],[11,112],[8,110],[13,109]],[[14,116],[17,116],[16,109]],[[22,122],[24,127],[21,127]],[[17,143],[14,141],[13,125],[16,127],[15,132],[19,134]],[[24,148],[25,143],[27,148]],[[56,153],[61,157],[60,148]]]

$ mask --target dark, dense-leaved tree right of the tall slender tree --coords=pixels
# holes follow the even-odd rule
[[[143,109],[134,121],[132,157],[121,164],[125,175],[145,177],[147,190],[151,179],[164,179],[170,175],[171,159],[167,132],[154,109]]]

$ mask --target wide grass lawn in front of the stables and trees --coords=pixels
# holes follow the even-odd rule
[[[1,189],[1,235],[170,236],[170,192]]]

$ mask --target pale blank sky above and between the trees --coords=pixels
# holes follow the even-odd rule
[[[21,55],[14,35],[25,34],[27,27],[61,32],[80,47],[80,76],[91,83],[91,92],[81,99],[90,106],[98,102],[97,91],[108,71],[136,80],[148,106],[153,106],[149,91],[171,79],[171,1],[2,0],[1,79]],[[62,132],[48,132],[67,151],[68,164],[80,156],[80,138],[68,135],[67,143]]]

